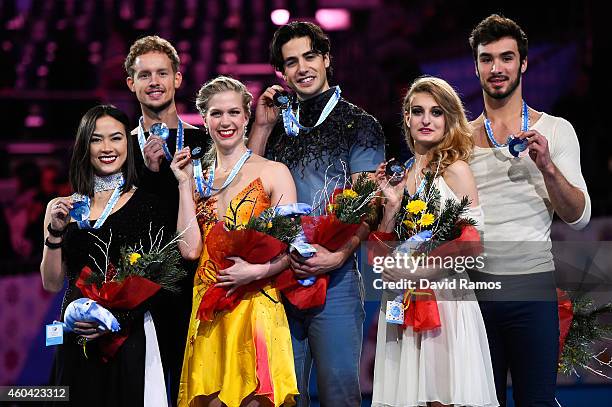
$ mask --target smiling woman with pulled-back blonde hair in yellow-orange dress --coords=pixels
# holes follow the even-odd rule
[[[252,154],[244,143],[251,101],[244,84],[225,76],[198,92],[196,106],[213,143],[202,159],[204,180],[196,181],[204,242],[219,220],[231,220],[240,228],[272,205],[296,201],[287,167]],[[281,272],[288,259],[283,254],[267,264],[249,264],[239,257],[229,260],[234,264],[223,269],[204,245],[194,277],[178,404],[294,405],[298,391],[291,336],[276,288],[266,283],[260,290],[247,291],[234,309],[216,312],[211,320],[198,312],[212,287],[229,289],[229,295]]]

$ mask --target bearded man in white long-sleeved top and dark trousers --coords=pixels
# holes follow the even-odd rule
[[[479,293],[497,398],[506,404],[509,368],[516,405],[556,406],[559,320],[550,227],[554,212],[575,229],[589,222],[580,146],[568,121],[523,101],[527,36],[514,21],[491,15],[469,42],[484,98],[484,112],[472,122],[470,166],[485,214],[487,253],[483,273],[472,276],[500,281],[505,294]],[[510,301],[506,295],[527,289],[538,298]],[[498,300],[489,301],[493,296]]]

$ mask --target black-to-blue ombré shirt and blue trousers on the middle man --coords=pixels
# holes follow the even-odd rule
[[[300,124],[314,126],[334,92],[331,88],[298,102]],[[323,123],[311,131],[300,130],[296,137],[285,134],[281,117],[268,140],[266,157],[289,167],[297,201],[311,204],[314,214],[319,215],[333,190],[349,183],[352,174],[376,169],[384,160],[384,145],[378,121],[341,98]],[[364,314],[355,257],[349,256],[327,275],[334,289],[327,291],[323,307],[299,310],[285,301],[300,392],[298,404],[307,404],[305,383],[314,362],[321,405],[361,405],[358,366]],[[326,349],[338,341],[344,346],[334,350],[330,362]],[[338,387],[341,393],[330,391]]]

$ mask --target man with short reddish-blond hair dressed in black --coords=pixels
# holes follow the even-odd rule
[[[134,42],[124,63],[128,88],[136,95],[142,111],[138,127],[131,132],[135,151],[140,151],[135,155],[139,186],[160,197],[175,217],[175,223],[179,194],[178,183],[170,169],[172,156],[181,148],[203,146],[206,142],[206,135],[200,129],[183,122],[177,114],[174,95],[182,82],[179,65],[176,49],[158,36]],[[152,126],[162,131],[150,134]],[[198,226],[194,223],[193,227]],[[195,266],[193,263],[184,265],[189,277],[181,284],[180,295],[162,293],[153,314],[157,317],[162,364],[173,404],[178,395]]]

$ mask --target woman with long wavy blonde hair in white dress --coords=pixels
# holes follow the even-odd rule
[[[397,184],[385,175],[382,163],[376,176],[384,194],[380,232],[394,231],[404,194],[422,197],[424,177],[434,175],[440,202],[467,196],[467,217],[482,226],[474,176],[468,166],[473,148],[463,105],[444,80],[421,77],[414,81],[402,105],[406,142],[414,157]],[[425,199],[423,197],[423,199]],[[412,270],[414,271],[414,270]],[[464,273],[465,274],[465,273]],[[447,270],[388,268],[383,280],[454,281],[461,277]],[[451,286],[452,287],[452,286]],[[457,285],[457,287],[460,287]],[[373,406],[497,406],[491,358],[478,302],[472,290],[434,289],[440,327],[415,331],[386,321],[383,294],[374,368]]]

